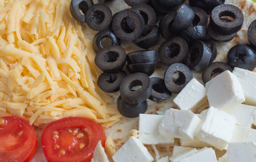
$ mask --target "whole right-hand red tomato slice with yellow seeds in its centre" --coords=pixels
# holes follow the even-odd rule
[[[104,146],[106,134],[102,127],[83,117],[53,121],[41,137],[43,153],[49,162],[89,162],[100,140]]]

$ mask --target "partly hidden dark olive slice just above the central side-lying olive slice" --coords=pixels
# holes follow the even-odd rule
[[[156,45],[159,39],[158,26],[153,26],[152,29],[146,29],[142,35],[137,38],[133,43],[142,49],[150,49]]]

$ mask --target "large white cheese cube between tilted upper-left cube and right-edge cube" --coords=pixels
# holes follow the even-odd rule
[[[210,107],[234,107],[245,101],[238,78],[230,71],[222,72],[207,84],[207,98]]]

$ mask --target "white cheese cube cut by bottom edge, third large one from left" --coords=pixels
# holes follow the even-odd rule
[[[217,162],[213,148],[202,148],[197,153],[190,155],[179,162]]]

